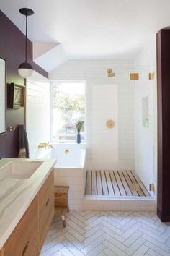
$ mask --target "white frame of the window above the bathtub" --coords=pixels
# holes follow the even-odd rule
[[[85,110],[84,110],[84,140],[81,140],[81,142],[86,143],[86,80],[50,80],[50,142],[52,143],[63,143],[60,141],[54,141],[52,140],[52,122],[53,122],[53,97],[52,97],[52,83],[58,82],[58,83],[84,83],[84,104],[85,104]],[[76,143],[76,140],[66,140],[65,143],[71,144]]]

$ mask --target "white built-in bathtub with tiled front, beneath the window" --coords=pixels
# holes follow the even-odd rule
[[[69,186],[68,203],[75,209],[84,200],[86,187],[86,149],[79,145],[53,145],[53,148],[38,149],[36,158],[54,158],[55,185]]]

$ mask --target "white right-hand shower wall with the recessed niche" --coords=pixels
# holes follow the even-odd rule
[[[156,187],[156,41],[151,38],[143,51],[134,60],[135,72],[135,171],[149,188]],[[154,72],[154,80],[148,79]],[[142,123],[142,98],[148,97],[149,127]]]

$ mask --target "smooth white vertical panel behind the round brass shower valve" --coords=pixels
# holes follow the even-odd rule
[[[118,162],[118,97],[117,85],[92,86],[92,168],[117,166]],[[107,128],[106,121],[115,127]]]

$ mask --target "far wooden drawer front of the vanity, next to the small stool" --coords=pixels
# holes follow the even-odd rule
[[[53,171],[48,176],[45,184],[39,192],[39,230],[40,230],[40,247],[45,240],[50,223],[54,216],[54,174]]]

